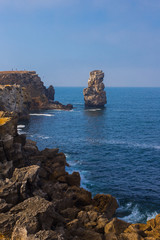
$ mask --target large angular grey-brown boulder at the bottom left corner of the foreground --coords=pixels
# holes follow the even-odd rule
[[[0,232],[12,239],[23,239],[28,234],[40,230],[50,230],[57,222],[64,223],[51,202],[40,197],[33,197],[19,203],[8,213],[0,214]],[[24,238],[25,239],[25,238]]]

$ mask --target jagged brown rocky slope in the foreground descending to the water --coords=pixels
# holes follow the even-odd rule
[[[65,171],[65,155],[58,149],[39,151],[17,134],[16,121],[0,113],[0,239],[160,239],[160,215],[147,224],[115,218],[114,197],[92,198],[80,187],[79,173]]]

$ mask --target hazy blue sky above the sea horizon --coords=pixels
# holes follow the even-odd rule
[[[0,56],[46,86],[160,87],[160,0],[0,0]]]

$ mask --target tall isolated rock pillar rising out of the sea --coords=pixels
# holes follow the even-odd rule
[[[104,73],[102,70],[94,70],[90,72],[88,88],[83,90],[86,107],[104,107],[107,103],[103,78]]]

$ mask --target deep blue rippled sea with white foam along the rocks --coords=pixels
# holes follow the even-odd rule
[[[104,109],[85,109],[83,88],[55,88],[71,111],[34,112],[19,133],[39,149],[59,148],[81,185],[111,194],[117,217],[145,222],[160,213],[160,88],[107,88]]]

